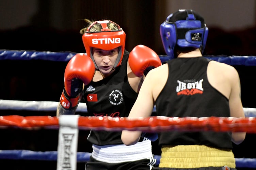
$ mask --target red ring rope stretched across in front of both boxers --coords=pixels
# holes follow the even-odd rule
[[[38,128],[58,126],[58,117],[51,116],[1,116],[0,126],[17,126],[20,128]],[[256,133],[256,117],[161,117],[147,118],[126,117],[79,117],[78,126],[84,130],[140,130],[145,132],[160,131],[215,131]]]

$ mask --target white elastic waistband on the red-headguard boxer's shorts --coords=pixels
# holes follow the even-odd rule
[[[145,140],[135,145],[93,145],[92,157],[101,162],[121,163],[144,158],[153,158],[151,141]]]

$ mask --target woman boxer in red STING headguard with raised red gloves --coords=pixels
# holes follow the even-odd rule
[[[161,65],[160,58],[143,45],[126,51],[126,34],[113,21],[85,21],[89,26],[80,33],[86,55],[77,54],[67,64],[57,116],[75,114],[83,97],[88,113],[81,116],[128,117],[145,75]],[[151,152],[156,134],[143,133],[132,146],[123,144],[121,131],[91,130],[87,139],[93,152],[86,170],[150,170],[156,163]]]

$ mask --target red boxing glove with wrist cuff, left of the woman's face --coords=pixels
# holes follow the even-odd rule
[[[86,54],[76,54],[68,62],[64,73],[64,90],[60,103],[65,109],[77,106],[83,84],[89,84],[94,76],[95,66]]]

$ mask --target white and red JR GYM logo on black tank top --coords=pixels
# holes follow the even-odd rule
[[[203,94],[203,83],[204,79],[196,81],[194,79],[191,80],[177,80],[178,86],[176,87],[177,95],[195,95],[195,94]]]

